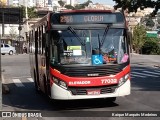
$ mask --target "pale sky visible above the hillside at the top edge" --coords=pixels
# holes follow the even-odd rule
[[[87,0],[79,0],[80,3],[83,3]],[[106,5],[115,5],[115,2],[113,0],[91,0],[93,3],[100,3],[100,4],[106,4]]]

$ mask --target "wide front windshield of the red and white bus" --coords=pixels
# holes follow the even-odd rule
[[[74,29],[52,31],[51,60],[54,64],[93,65],[93,56],[101,64],[128,61],[127,41],[122,28]],[[97,59],[97,58],[96,58]]]

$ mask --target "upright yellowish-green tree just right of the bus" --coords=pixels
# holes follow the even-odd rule
[[[136,53],[140,53],[142,46],[145,43],[146,30],[143,25],[135,26],[133,30],[133,48]]]

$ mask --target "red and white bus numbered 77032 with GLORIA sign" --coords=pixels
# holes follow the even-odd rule
[[[130,94],[125,16],[108,10],[48,13],[29,33],[31,76],[51,99]]]

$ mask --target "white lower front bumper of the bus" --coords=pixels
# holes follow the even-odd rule
[[[109,98],[129,95],[131,91],[131,82],[127,80],[123,85],[116,88],[113,93],[106,93],[100,95],[72,95],[72,93],[66,89],[53,84],[51,87],[51,98],[57,100],[73,100],[73,99],[94,99],[94,98]]]

